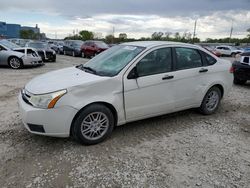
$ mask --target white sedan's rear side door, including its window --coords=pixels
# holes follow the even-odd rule
[[[176,110],[196,107],[203,98],[204,74],[208,67],[203,67],[202,56],[193,48],[176,47],[175,63],[175,106]]]

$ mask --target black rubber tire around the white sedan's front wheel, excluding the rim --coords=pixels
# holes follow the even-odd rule
[[[89,140],[89,139],[85,138],[81,133],[81,123],[82,123],[82,121],[84,120],[84,118],[88,114],[93,113],[93,112],[102,112],[109,119],[109,128],[108,128],[107,132],[101,138],[99,138],[97,140]],[[75,119],[75,121],[73,123],[72,135],[81,144],[93,145],[93,144],[97,144],[97,143],[102,142],[108,136],[110,136],[112,131],[113,131],[114,125],[115,125],[115,121],[114,121],[114,116],[113,116],[111,110],[109,108],[107,108],[106,106],[104,106],[104,105],[93,104],[93,105],[90,105],[90,106],[86,107],[84,110],[82,110],[78,114],[77,118]]]

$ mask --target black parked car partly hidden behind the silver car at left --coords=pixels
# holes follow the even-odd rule
[[[26,46],[35,48],[44,62],[56,62],[56,52],[52,50],[45,42],[28,42]]]

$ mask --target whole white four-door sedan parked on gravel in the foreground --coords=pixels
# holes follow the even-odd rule
[[[20,112],[31,133],[96,144],[128,122],[189,108],[214,113],[232,87],[230,67],[195,45],[124,43],[34,78],[19,95]]]

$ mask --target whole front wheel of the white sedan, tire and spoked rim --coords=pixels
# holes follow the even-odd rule
[[[114,125],[111,110],[104,105],[93,104],[76,117],[72,125],[72,135],[81,144],[97,144],[111,135]]]

